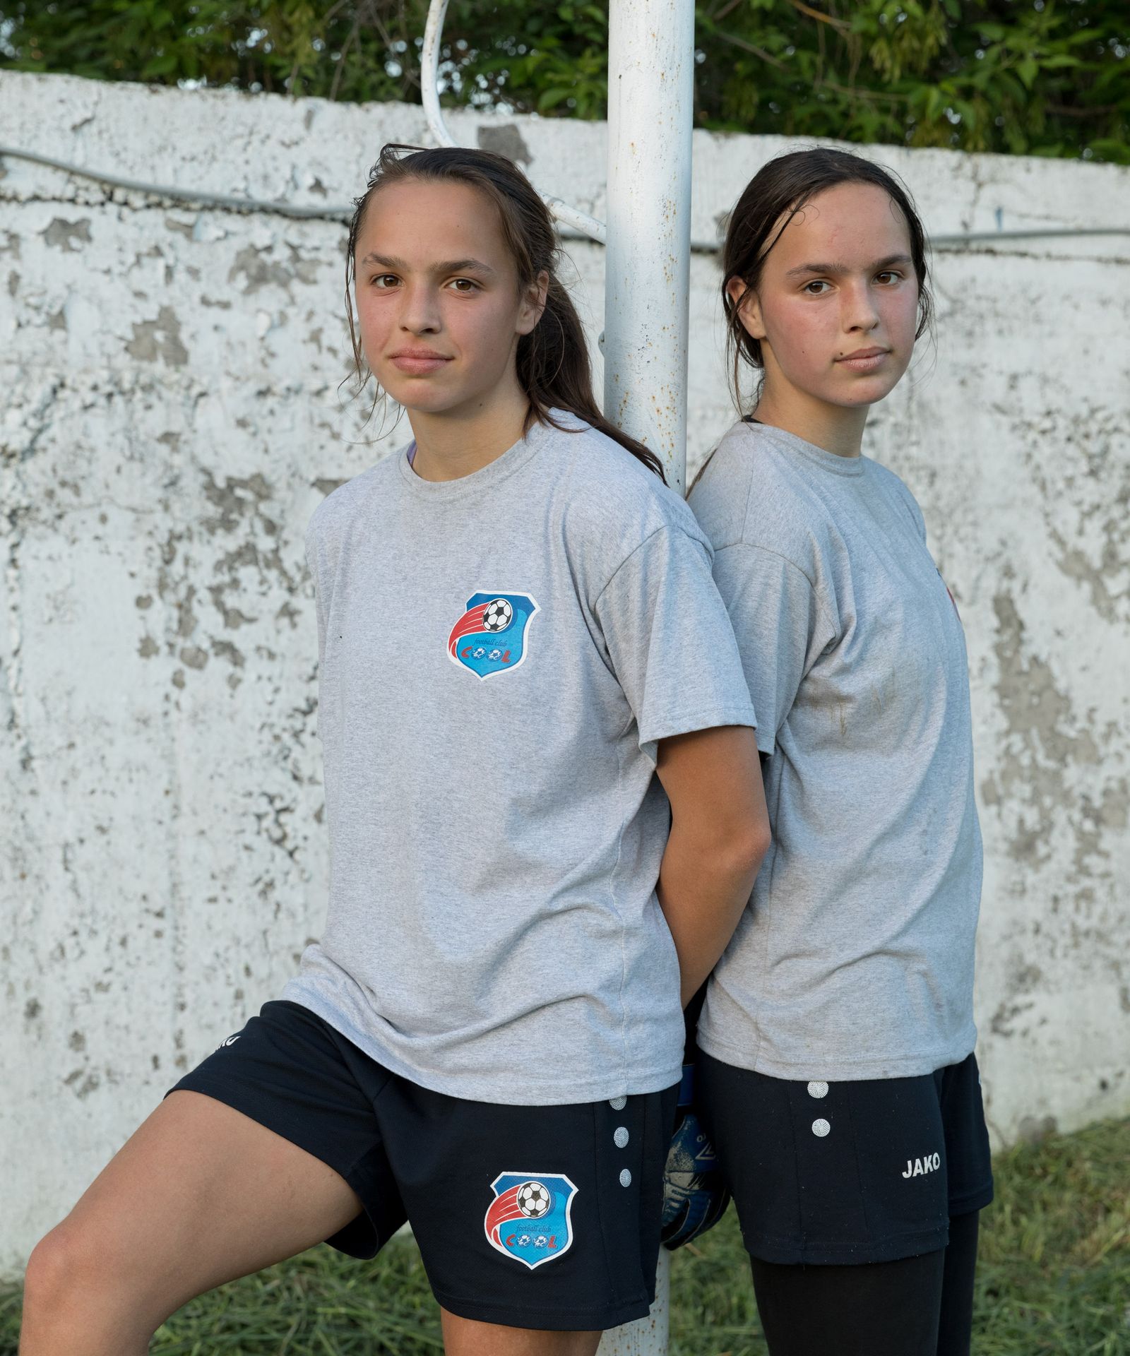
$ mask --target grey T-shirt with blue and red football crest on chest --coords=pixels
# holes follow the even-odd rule
[[[551,1105],[676,1082],[661,739],[753,725],[709,546],[619,443],[534,426],[311,521],[330,907],[284,997],[425,1088]]]

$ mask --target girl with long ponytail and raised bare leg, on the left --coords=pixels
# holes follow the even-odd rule
[[[39,1245],[24,1356],[140,1356],[199,1291],[406,1219],[452,1356],[647,1313],[681,1003],[766,816],[709,548],[601,418],[555,255],[502,157],[381,152],[346,304],[412,439],[307,534],[326,929]]]

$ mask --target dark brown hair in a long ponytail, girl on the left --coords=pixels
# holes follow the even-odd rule
[[[357,237],[376,194],[387,184],[407,180],[465,183],[478,188],[498,210],[502,237],[518,274],[520,292],[534,283],[539,274],[549,275],[545,309],[533,330],[518,339],[518,382],[529,399],[526,428],[534,422],[552,424],[549,411],[564,410],[619,442],[663,480],[663,466],[655,453],[609,423],[597,407],[585,331],[568,292],[558,277],[560,250],[549,209],[517,165],[490,151],[465,146],[421,149],[396,144],[381,148],[380,159],[369,171],[368,187],[354,203],[349,226],[346,316],[358,382],[364,386],[372,373],[365,363],[353,312]]]

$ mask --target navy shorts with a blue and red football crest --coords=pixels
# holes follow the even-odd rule
[[[361,1214],[327,1239],[372,1257],[407,1220],[435,1299],[511,1328],[597,1330],[655,1296],[662,1176],[677,1088],[567,1106],[505,1106],[389,1073],[292,1002],[176,1085],[322,1159]]]

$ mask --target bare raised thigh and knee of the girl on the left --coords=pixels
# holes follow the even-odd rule
[[[22,1356],[144,1356],[194,1295],[328,1238],[361,1205],[331,1168],[172,1093],[31,1254]]]

